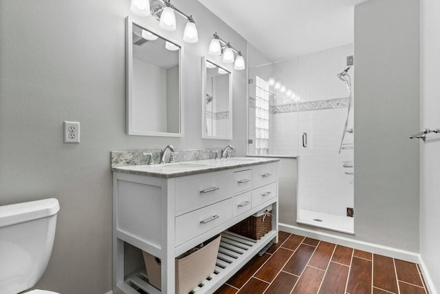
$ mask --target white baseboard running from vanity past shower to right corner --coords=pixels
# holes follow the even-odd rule
[[[374,244],[370,242],[364,242],[360,240],[346,238],[340,235],[333,235],[331,233],[313,231],[311,229],[300,228],[300,227],[292,226],[290,224],[280,223],[278,224],[278,229],[281,231],[285,231],[287,233],[294,233],[297,235],[303,235],[305,237],[314,238],[325,242],[338,244],[341,246],[347,246],[358,250],[369,251],[375,254],[396,258],[398,260],[405,260],[407,262],[413,262],[417,264],[420,262],[420,254],[411,251],[406,251],[393,247],[383,246],[380,244]]]

